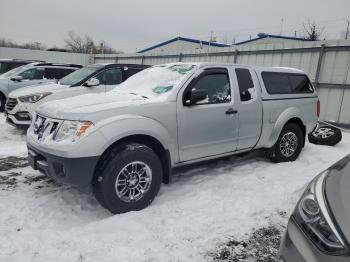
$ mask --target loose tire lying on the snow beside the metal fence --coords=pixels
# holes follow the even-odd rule
[[[339,128],[333,126],[320,126],[308,134],[308,139],[313,144],[334,146],[341,141],[342,133]]]

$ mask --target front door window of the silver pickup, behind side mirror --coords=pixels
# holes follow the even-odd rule
[[[220,104],[231,101],[230,80],[227,73],[212,73],[202,76],[192,90],[203,90],[207,98],[196,102],[197,105]]]

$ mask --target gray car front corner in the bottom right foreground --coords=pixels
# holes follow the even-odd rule
[[[317,176],[291,216],[278,262],[350,261],[350,155]]]

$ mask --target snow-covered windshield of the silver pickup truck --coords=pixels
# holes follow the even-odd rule
[[[154,66],[128,78],[112,92],[129,93],[144,98],[166,98],[194,67],[192,64]]]

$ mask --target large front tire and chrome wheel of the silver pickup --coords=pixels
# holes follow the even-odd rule
[[[112,150],[106,160],[93,183],[97,201],[113,214],[149,206],[163,177],[156,153],[145,145],[132,143]]]

